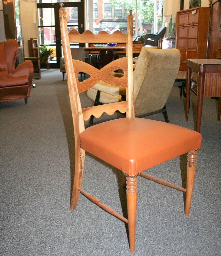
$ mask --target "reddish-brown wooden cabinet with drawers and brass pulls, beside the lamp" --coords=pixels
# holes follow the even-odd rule
[[[186,59],[205,59],[209,8],[196,7],[176,14],[175,47],[180,50],[180,70],[186,70]]]

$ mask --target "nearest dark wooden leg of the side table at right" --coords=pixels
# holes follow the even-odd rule
[[[196,117],[196,131],[200,132],[202,108],[203,108],[203,93],[204,93],[205,73],[198,73],[197,82],[197,117]]]

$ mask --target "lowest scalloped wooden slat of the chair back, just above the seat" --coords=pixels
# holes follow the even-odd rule
[[[104,105],[93,106],[89,108],[82,109],[84,120],[87,121],[91,115],[95,118],[101,117],[103,113],[107,113],[108,115],[113,115],[115,111],[119,111],[120,113],[125,113],[128,109],[128,101],[120,101],[114,103],[108,103]]]

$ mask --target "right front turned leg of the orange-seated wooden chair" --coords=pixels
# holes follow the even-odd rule
[[[192,199],[193,184],[196,171],[197,151],[190,151],[187,158],[187,181],[186,181],[186,207],[185,216],[189,216],[190,204]]]

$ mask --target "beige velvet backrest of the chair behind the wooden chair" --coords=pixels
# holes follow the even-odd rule
[[[180,64],[177,49],[143,47],[133,73],[135,115],[162,109]]]

